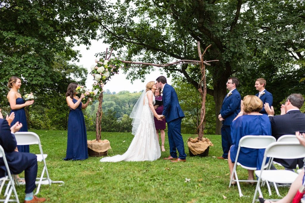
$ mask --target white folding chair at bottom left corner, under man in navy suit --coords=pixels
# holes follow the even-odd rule
[[[1,193],[1,191],[2,191],[2,189],[4,187],[4,185],[5,185],[5,181],[6,180],[9,181],[8,184],[7,184],[7,187],[6,187],[6,192],[5,192],[6,198],[5,199],[0,199],[0,201],[1,202],[13,202],[13,201],[16,201],[16,202],[19,203],[18,194],[16,192],[15,184],[14,184],[11,172],[9,170],[9,165],[7,164],[7,161],[6,161],[4,149],[2,148],[1,145],[0,145],[0,158],[3,159],[4,165],[5,165],[5,168],[6,168],[6,171],[7,171],[7,176],[0,178],[0,181],[1,181],[0,193]],[[15,199],[10,199],[12,191],[14,191]]]

